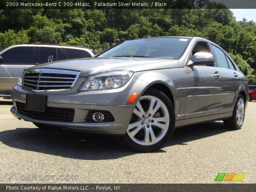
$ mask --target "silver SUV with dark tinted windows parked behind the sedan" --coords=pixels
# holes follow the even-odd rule
[[[10,46],[0,52],[0,97],[10,96],[12,87],[25,68],[58,60],[92,57],[94,54],[94,51],[82,46],[52,44]]]

